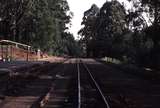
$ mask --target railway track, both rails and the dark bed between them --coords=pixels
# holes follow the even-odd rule
[[[78,67],[78,108],[110,108],[100,85],[87,65],[79,60]]]

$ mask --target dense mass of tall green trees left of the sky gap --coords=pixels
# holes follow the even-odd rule
[[[76,43],[67,33],[72,13],[66,0],[1,0],[0,9],[1,39],[54,55],[70,54],[66,46]]]

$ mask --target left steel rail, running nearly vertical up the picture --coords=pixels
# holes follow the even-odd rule
[[[78,108],[81,108],[81,79],[80,79],[79,60],[77,60],[77,69],[78,69]]]

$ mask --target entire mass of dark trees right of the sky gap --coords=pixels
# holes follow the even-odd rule
[[[160,60],[159,0],[128,0],[126,10],[116,0],[84,13],[80,31],[83,49],[89,57],[112,57],[125,62],[156,66]],[[147,19],[144,17],[147,14]]]

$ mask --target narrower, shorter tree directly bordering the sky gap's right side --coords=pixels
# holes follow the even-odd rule
[[[92,45],[92,41],[95,38],[96,20],[98,13],[99,8],[95,4],[93,4],[89,10],[85,11],[83,21],[81,23],[84,25],[84,27],[78,32],[78,34],[81,35],[81,42],[83,41],[85,45],[87,57],[92,55],[90,52],[93,49],[91,47],[94,47]]]

